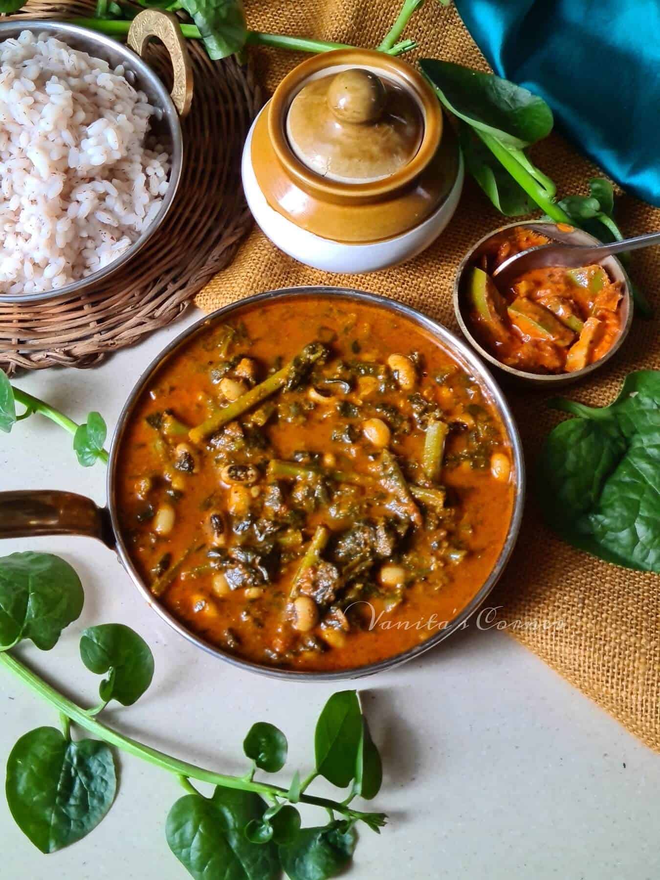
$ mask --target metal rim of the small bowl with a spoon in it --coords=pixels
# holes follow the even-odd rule
[[[556,227],[553,221],[544,221],[544,220],[519,220],[516,223],[505,224],[504,226],[499,226],[497,229],[488,232],[487,235],[484,235],[479,241],[475,242],[473,246],[469,248],[466,255],[458,264],[458,268],[456,270],[456,277],[454,278],[454,286],[453,286],[453,303],[454,303],[454,313],[456,315],[456,319],[458,321],[458,326],[461,329],[461,333],[466,337],[468,343],[474,348],[474,350],[482,357],[484,360],[488,361],[488,363],[492,363],[498,370],[502,370],[502,372],[507,373],[509,376],[518,379],[522,383],[526,383],[529,385],[565,385],[568,383],[579,381],[585,376],[589,376],[590,373],[599,370],[602,366],[607,363],[612,356],[614,356],[623,345],[624,341],[626,341],[627,334],[630,332],[630,327],[633,322],[633,312],[634,312],[634,301],[630,292],[630,278],[628,277],[626,268],[623,266],[621,261],[616,256],[611,256],[608,259],[614,260],[617,263],[618,268],[620,269],[621,275],[623,275],[624,280],[626,282],[625,288],[625,297],[627,301],[627,319],[624,326],[621,327],[620,334],[617,340],[612,345],[608,351],[605,352],[605,355],[595,361],[594,363],[588,364],[586,367],[583,367],[582,370],[575,370],[572,373],[530,373],[526,370],[517,370],[516,367],[510,367],[506,363],[502,363],[498,361],[494,355],[491,355],[488,349],[483,348],[480,343],[474,338],[470,327],[468,326],[466,319],[463,317],[463,313],[461,311],[461,302],[462,302],[462,293],[461,293],[461,281],[463,279],[463,275],[466,272],[466,268],[469,267],[470,261],[473,259],[475,251],[480,248],[481,245],[485,244],[489,238],[493,238],[495,235],[498,235],[500,232],[507,231],[508,229],[513,229],[516,226],[547,226],[547,227]],[[575,231],[580,232],[582,235],[587,236],[591,239],[591,241],[595,245],[602,245],[603,242],[600,241],[596,236],[590,234],[583,229],[579,229],[576,227]]]

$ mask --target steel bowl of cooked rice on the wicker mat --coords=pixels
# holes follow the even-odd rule
[[[172,98],[132,49],[72,24],[1,22],[0,302],[80,294],[133,260],[172,207],[182,156]]]

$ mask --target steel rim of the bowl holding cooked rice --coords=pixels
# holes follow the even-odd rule
[[[157,93],[158,100],[162,102],[159,109],[163,114],[163,120],[170,129],[170,135],[172,137],[170,180],[167,192],[163,196],[163,204],[160,206],[158,214],[154,217],[152,223],[147,229],[140,234],[136,241],[134,241],[117,260],[113,260],[113,262],[108,263],[107,266],[100,268],[92,275],[78,278],[77,281],[71,282],[65,287],[58,288],[57,290],[42,290],[37,293],[27,294],[0,293],[0,304],[52,302],[64,297],[70,297],[72,294],[82,294],[88,286],[91,287],[92,284],[96,285],[97,283],[106,280],[109,275],[112,275],[117,269],[125,266],[128,263],[128,260],[132,260],[133,257],[136,256],[136,253],[143,249],[143,246],[147,244],[150,238],[163,224],[165,216],[172,208],[172,202],[179,189],[181,175],[183,173],[183,134],[181,131],[179,114],[172,103],[170,93],[165,88],[160,77],[158,77],[158,74],[154,70],[151,70],[150,66],[140,57],[140,55],[137,55],[133,49],[128,48],[128,46],[125,46],[123,43],[113,40],[105,33],[98,33],[90,30],[88,27],[75,25],[71,22],[58,21],[53,18],[7,18],[5,20],[0,20],[0,41],[11,39],[11,35],[14,32],[20,33],[21,31],[38,30],[59,32],[62,33],[62,36],[70,34],[71,36],[77,37],[79,40],[91,40],[92,44],[102,46],[109,52],[118,53],[121,60],[118,60],[117,63],[121,63],[121,61],[130,62],[137,73],[139,73],[139,76],[144,77],[144,79],[147,80],[154,92]],[[7,32],[10,31],[11,34],[8,34]],[[90,48],[84,48],[84,50],[78,49],[78,51],[85,51],[88,55],[93,56],[93,46]],[[136,87],[142,88],[142,85],[138,83],[136,84]]]

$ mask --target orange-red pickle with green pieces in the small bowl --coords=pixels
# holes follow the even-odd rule
[[[619,338],[622,283],[597,265],[533,269],[508,290],[490,278],[514,253],[549,240],[524,226],[490,238],[467,273],[469,318],[480,344],[501,363],[532,373],[573,372],[598,361]]]

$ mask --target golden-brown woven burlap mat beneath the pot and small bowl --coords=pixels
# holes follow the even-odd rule
[[[396,17],[399,5],[399,0],[298,0],[296,4],[253,0],[247,3],[247,15],[250,25],[260,30],[286,30],[373,47]],[[416,55],[488,70],[453,8],[427,3],[406,36],[418,40]],[[260,52],[258,75],[272,90],[301,57]],[[558,75],[568,76],[566,71]],[[564,194],[584,192],[586,181],[596,172],[559,136],[539,145],[534,157]],[[660,229],[660,210],[625,196],[619,200],[619,217],[630,234]],[[458,261],[474,240],[503,222],[468,180],[456,216],[434,246],[404,266],[372,275],[327,275],[306,268],[254,230],[231,266],[202,290],[197,304],[210,312],[261,290],[337,284],[400,299],[456,330],[451,285]],[[640,252],[633,274],[660,312],[656,280],[660,251]],[[660,368],[657,331],[657,319],[635,319],[612,366],[598,373],[598,378],[569,388],[568,393],[586,403],[605,404],[630,370]],[[544,392],[506,390],[532,475],[539,444],[557,415],[546,407]],[[517,550],[488,605],[502,605],[499,618],[508,622],[515,638],[660,751],[660,584],[656,575],[597,561],[556,539],[539,521],[532,490]]]

